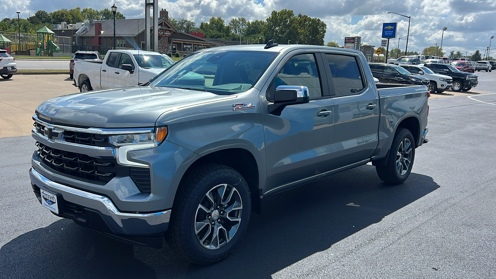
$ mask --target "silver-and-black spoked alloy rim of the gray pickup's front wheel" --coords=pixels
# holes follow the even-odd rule
[[[220,184],[210,189],[194,217],[198,242],[210,250],[226,245],[238,231],[242,209],[240,193],[232,185]]]

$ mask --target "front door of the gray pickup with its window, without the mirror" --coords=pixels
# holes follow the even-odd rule
[[[329,88],[321,79],[325,78],[322,63],[317,61],[314,54],[294,56],[279,70],[267,91],[270,100],[279,85],[303,85],[308,86],[313,98],[308,104],[287,106],[281,116],[264,115],[267,190],[331,169],[334,119],[332,114],[317,114],[332,112],[333,101],[322,97],[329,95]]]

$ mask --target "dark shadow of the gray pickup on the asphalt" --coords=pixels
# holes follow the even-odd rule
[[[429,176],[412,173],[398,186],[382,183],[365,165],[262,201],[245,237],[227,259],[196,266],[164,242],[146,249],[61,219],[0,248],[0,274],[12,278],[270,278],[272,274],[380,222],[433,192]],[[347,206],[353,203],[357,206]],[[39,269],[34,272],[33,269]]]

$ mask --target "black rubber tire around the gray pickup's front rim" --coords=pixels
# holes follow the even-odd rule
[[[242,209],[238,209],[238,211],[235,212],[235,214],[239,214],[239,226],[229,241],[226,241],[227,236],[224,233],[224,239],[218,238],[217,241],[214,241],[213,237],[207,237],[204,242],[200,243],[200,238],[202,236],[211,235],[212,227],[210,227],[210,221],[214,220],[215,212],[217,212],[216,214],[220,214],[216,215],[219,219],[215,219],[215,227],[221,226],[220,222],[222,222],[222,225],[225,225],[224,222],[226,222],[226,229],[230,225],[228,223],[231,221],[226,219],[226,217],[233,217],[230,215],[233,211],[229,213],[222,211],[222,208],[226,208],[227,205],[222,207],[223,203],[221,203],[220,209],[217,208],[221,211],[218,211],[215,209],[216,203],[210,202],[210,200],[204,200],[206,194],[218,193],[215,192],[214,189],[223,184],[227,185],[225,188],[227,190],[224,190],[224,193],[228,192],[228,187],[232,187],[230,188],[231,191],[236,193],[233,190],[235,189],[239,194],[237,197],[241,200]],[[235,194],[232,195],[233,198],[234,196]],[[213,200],[219,202],[218,196],[217,198],[215,195],[212,197]],[[230,198],[230,200],[233,198]],[[220,199],[223,200],[222,198]],[[205,201],[212,204],[212,213],[203,214],[203,212],[207,211],[200,209],[199,205],[204,205]],[[209,205],[206,205],[204,208],[209,207]],[[227,207],[227,209],[230,208],[231,206]],[[226,258],[240,243],[248,227],[250,210],[251,197],[248,190],[248,184],[245,178],[238,171],[220,164],[204,164],[194,167],[186,172],[184,179],[181,181],[179,189],[176,192],[171,221],[169,223],[169,229],[166,233],[166,240],[169,245],[176,250],[176,252],[191,263],[197,265],[208,265],[215,263]],[[200,216],[200,214],[205,215],[205,217],[203,217],[203,215]],[[221,220],[221,217],[224,219]],[[208,224],[203,225],[201,229],[195,233],[195,227],[197,227],[199,223],[201,224],[198,220],[203,219],[208,219]],[[218,221],[219,224],[217,224]],[[233,227],[234,226],[232,226],[231,229]],[[224,231],[226,231],[226,229],[224,229]],[[219,233],[218,235],[221,234]],[[210,243],[208,243],[208,241],[210,241]],[[214,242],[219,243],[218,247],[213,247],[215,246],[213,245]],[[213,246],[208,248],[204,245]]]

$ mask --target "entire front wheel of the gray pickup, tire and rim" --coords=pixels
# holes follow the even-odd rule
[[[186,172],[176,195],[169,245],[198,265],[227,257],[248,227],[251,198],[245,178],[224,165],[200,165]]]

